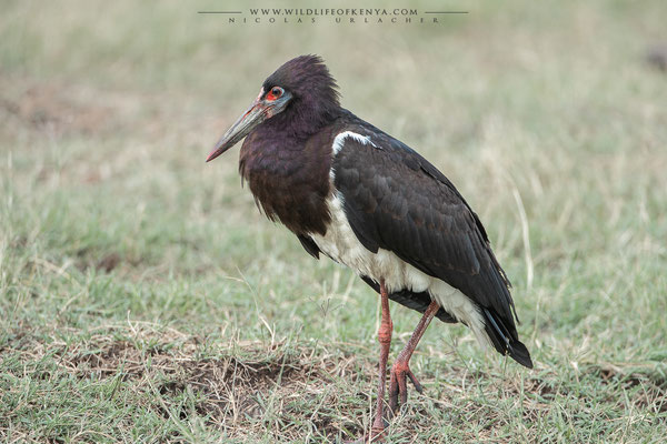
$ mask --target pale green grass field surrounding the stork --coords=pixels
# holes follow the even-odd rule
[[[439,24],[197,14],[221,4],[3,3],[2,442],[369,427],[377,295],[258,213],[238,148],[203,162],[301,53],[476,209],[536,364],[434,322],[412,361],[425,394],[388,442],[665,442],[667,75],[644,60],[663,0],[415,3],[470,12]],[[390,359],[418,321],[391,309]]]

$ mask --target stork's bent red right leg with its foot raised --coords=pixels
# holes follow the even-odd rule
[[[415,389],[417,392],[421,393],[421,384],[417,381],[417,377],[412,374],[409,367],[410,357],[412,357],[412,352],[417,347],[419,340],[424,335],[424,332],[430,324],[431,320],[440,309],[440,305],[436,301],[432,301],[426,312],[424,312],[424,316],[417,324],[417,329],[412,332],[412,336],[406,344],[405,349],[398,355],[398,359],[391,366],[391,379],[389,381],[389,406],[391,407],[391,412],[396,413],[396,408],[398,406],[398,395],[400,394],[400,403],[405,405],[408,402],[408,386],[407,386],[407,377],[410,379],[412,384],[415,384]]]

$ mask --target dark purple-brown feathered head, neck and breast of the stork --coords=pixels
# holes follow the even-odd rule
[[[275,85],[292,100],[248,134],[239,172],[267,218],[297,234],[323,234],[330,220],[326,199],[332,142],[325,129],[344,113],[336,82],[321,59],[303,56],[271,74],[265,91]]]

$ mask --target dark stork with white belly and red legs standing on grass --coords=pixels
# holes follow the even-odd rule
[[[379,389],[372,441],[385,431],[389,301],[424,313],[390,370],[389,406],[407,402],[410,356],[434,317],[467,325],[478,342],[532,367],[519,341],[510,283],[487,233],[454,184],[399,140],[339,104],[317,56],[265,80],[207,162],[241,139],[239,172],[257,205],[313,258],[352,269],[381,297]]]

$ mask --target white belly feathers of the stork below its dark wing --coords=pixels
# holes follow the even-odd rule
[[[336,139],[342,134],[345,133]],[[330,175],[334,181],[332,170]],[[388,250],[379,249],[377,253],[368,251],[359,242],[347,220],[342,195],[335,192],[327,200],[327,204],[331,214],[327,233],[309,234],[322,253],[355,270],[359,275],[369,276],[376,282],[384,279],[389,292],[405,289],[414,292],[428,291],[431,299],[445,311],[472,330],[482,346],[490,345],[479,310],[464,293],[437,278],[422,273]]]

